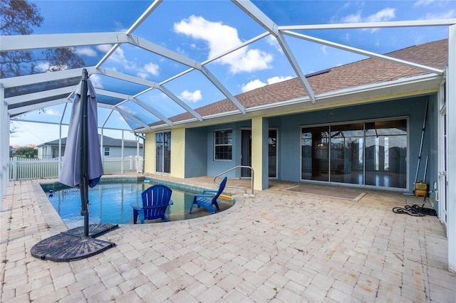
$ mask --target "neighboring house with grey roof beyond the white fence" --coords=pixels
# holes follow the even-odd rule
[[[120,157],[122,156],[122,139],[113,139],[111,137],[98,134],[100,145],[103,146],[101,156]],[[58,158],[59,140],[53,140],[38,145],[38,159]],[[66,138],[61,140],[61,154],[65,155]],[[139,151],[139,153],[138,153]],[[142,143],[139,144],[134,140],[123,140],[123,156],[142,156]]]

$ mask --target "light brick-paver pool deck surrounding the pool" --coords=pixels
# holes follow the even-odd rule
[[[30,254],[67,229],[40,182],[10,182],[3,198],[0,302],[456,302],[440,220],[393,213],[410,203],[401,193],[363,189],[351,201],[271,181],[254,197],[229,190],[237,203],[222,213],[120,225],[98,237],[115,247],[52,262]]]

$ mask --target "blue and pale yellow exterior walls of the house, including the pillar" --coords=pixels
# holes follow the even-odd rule
[[[378,101],[361,105],[334,107],[325,110],[299,112],[279,117],[253,117],[239,122],[229,122],[205,127],[176,129],[172,131],[172,176],[189,178],[195,176],[217,176],[223,171],[241,165],[242,129],[252,129],[252,167],[255,172],[255,189],[268,187],[268,133],[267,129],[278,129],[277,179],[301,181],[301,127],[318,124],[340,124],[365,122],[376,119],[408,119],[407,188],[413,191],[418,156],[420,154],[423,119],[427,103],[427,119],[423,137],[423,149],[418,170],[418,181],[423,179],[426,158],[426,179],[432,188],[437,182],[437,118],[439,115],[437,93],[418,97],[402,97],[397,100]],[[232,129],[232,159],[214,160],[214,131]],[[153,133],[151,133],[153,134]],[[154,149],[155,135],[147,134],[146,147]],[[182,144],[182,142],[185,142]],[[147,151],[146,172],[154,173],[155,159]],[[230,171],[228,178],[239,178],[241,170]]]

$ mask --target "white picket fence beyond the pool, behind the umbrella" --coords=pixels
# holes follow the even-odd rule
[[[142,172],[142,156],[103,157],[104,174]],[[9,181],[58,178],[61,165],[55,159],[9,159]]]

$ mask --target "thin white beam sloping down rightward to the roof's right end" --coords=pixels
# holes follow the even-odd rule
[[[418,63],[412,63],[412,62],[409,62],[409,61],[406,61],[406,60],[400,60],[400,59],[396,59],[396,58],[393,58],[393,57],[388,57],[387,55],[380,55],[378,53],[372,53],[372,52],[370,52],[368,50],[361,50],[359,48],[352,48],[351,46],[344,46],[343,44],[333,43],[331,41],[326,41],[326,40],[323,40],[323,39],[302,35],[301,33],[294,33],[292,31],[284,31],[284,34],[286,34],[288,36],[293,36],[295,38],[301,38],[301,39],[304,39],[306,41],[311,41],[311,42],[323,44],[324,46],[331,46],[333,48],[338,48],[338,49],[341,49],[341,50],[347,50],[347,51],[349,51],[351,53],[358,53],[360,55],[366,55],[366,56],[371,57],[371,58],[378,58],[380,60],[385,60],[385,61],[389,61],[389,62],[393,62],[393,63],[398,63],[400,65],[409,66],[411,68],[418,68],[420,70],[425,70],[426,72],[429,72],[429,73],[436,73],[438,75],[443,75],[443,72],[444,72],[444,70],[440,70],[438,68],[431,68],[429,66],[421,65],[421,64],[418,64]]]

